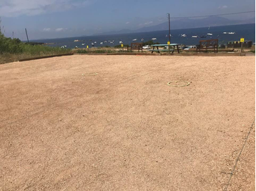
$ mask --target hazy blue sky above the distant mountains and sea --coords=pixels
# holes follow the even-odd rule
[[[92,35],[139,29],[171,16],[201,16],[254,11],[255,0],[0,0],[4,35],[31,39]],[[226,16],[249,19],[255,14]]]

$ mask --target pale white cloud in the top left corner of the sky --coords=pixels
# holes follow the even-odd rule
[[[0,0],[0,16],[38,15],[87,6],[97,0]]]

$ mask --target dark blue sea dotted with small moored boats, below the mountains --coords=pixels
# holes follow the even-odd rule
[[[227,32],[227,33],[224,33]],[[228,34],[235,32],[234,34]],[[207,33],[212,33],[212,36],[207,36]],[[186,34],[182,37],[181,34]],[[219,39],[219,44],[227,44],[228,41],[240,41],[240,38],[245,38],[245,41],[252,41],[255,43],[255,24],[242,24],[232,26],[210,26],[197,29],[171,29],[171,43],[180,43],[186,46],[199,44],[200,40]],[[199,38],[192,38],[192,36],[199,36]],[[206,38],[200,38],[206,36]],[[72,38],[51,38],[44,40],[34,40],[41,43],[49,43],[46,46],[67,46],[67,48],[89,48],[101,46],[117,46],[120,41],[123,44],[130,44],[132,42],[150,41],[152,38],[157,38],[154,42],[167,43],[169,41],[168,31],[152,31],[143,33],[121,33],[112,35],[97,35],[97,36],[78,36]],[[137,41],[133,41],[137,39]],[[75,40],[79,40],[74,42]],[[100,44],[103,42],[103,44]],[[111,43],[112,42],[112,43]],[[84,45],[82,45],[84,43]],[[92,45],[94,43],[94,45]]]

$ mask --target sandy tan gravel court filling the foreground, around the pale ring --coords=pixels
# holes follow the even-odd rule
[[[0,92],[0,190],[255,190],[255,56],[7,63]]]

